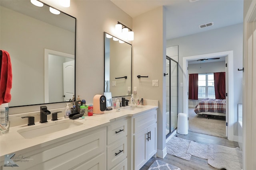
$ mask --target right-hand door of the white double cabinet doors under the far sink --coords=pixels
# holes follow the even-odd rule
[[[156,154],[156,123],[148,127],[149,139],[146,140],[148,149],[148,159],[150,159],[154,154]]]

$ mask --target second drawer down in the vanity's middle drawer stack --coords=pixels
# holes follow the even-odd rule
[[[116,166],[127,156],[127,138],[123,138],[107,148],[108,170]]]

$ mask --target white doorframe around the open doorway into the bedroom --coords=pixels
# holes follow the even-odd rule
[[[223,51],[218,53],[209,53],[203,55],[194,55],[183,57],[183,112],[188,116],[188,61],[195,60],[195,59],[209,59],[214,57],[227,57],[228,61],[228,72],[226,74],[227,77],[227,93],[228,93],[228,100],[226,103],[227,106],[227,113],[226,113],[226,121],[228,124],[228,140],[230,141],[237,141],[234,136],[234,84],[233,84],[233,51]]]

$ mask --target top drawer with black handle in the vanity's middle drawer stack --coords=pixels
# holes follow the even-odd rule
[[[116,142],[127,135],[127,120],[118,121],[108,126],[108,142],[110,145],[113,142]]]

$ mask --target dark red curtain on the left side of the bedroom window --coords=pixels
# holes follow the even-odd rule
[[[198,74],[189,74],[188,99],[198,100]]]

